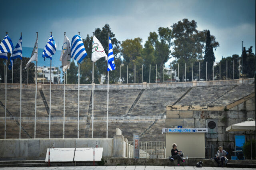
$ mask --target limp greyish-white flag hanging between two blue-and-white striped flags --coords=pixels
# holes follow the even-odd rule
[[[62,71],[65,72],[70,68],[70,41],[66,35],[64,36],[60,61],[62,63]]]

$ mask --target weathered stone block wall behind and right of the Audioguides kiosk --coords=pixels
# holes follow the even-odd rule
[[[254,93],[252,93],[254,94]],[[237,103],[237,105],[235,105]],[[240,104],[238,104],[240,103]],[[166,108],[166,128],[207,128],[209,121],[216,121],[216,133],[208,132],[205,136],[206,148],[209,147],[209,157],[211,155],[211,145],[214,144],[217,151],[218,146],[223,146],[224,150],[229,152],[228,157],[234,155],[235,135],[245,134],[246,141],[254,138],[254,133],[249,132],[226,132],[226,127],[246,121],[248,118],[255,119],[255,98],[241,99],[236,101],[232,108],[226,109],[227,106],[167,106]],[[235,105],[235,106],[234,106]],[[229,106],[229,105],[228,105]],[[208,129],[209,131],[209,129]],[[213,131],[214,132],[214,131]],[[206,149],[206,158],[208,150]]]

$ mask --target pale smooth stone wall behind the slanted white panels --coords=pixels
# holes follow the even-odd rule
[[[115,135],[114,138],[69,138],[69,139],[0,139],[0,160],[45,160],[47,148],[55,143],[55,148],[103,148],[102,157],[124,158],[126,150],[133,155],[132,146],[126,149],[124,136]],[[129,157],[128,156],[128,157]]]

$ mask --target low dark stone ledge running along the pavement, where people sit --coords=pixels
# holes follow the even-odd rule
[[[181,166],[196,166],[202,161],[203,166],[217,166],[213,159],[188,159]],[[171,162],[169,159],[146,159],[146,158],[102,158],[95,162],[96,166],[128,166],[128,165],[152,165],[152,166],[177,166],[177,160]],[[0,161],[0,167],[25,167],[25,166],[48,166],[44,161]],[[50,162],[50,166],[93,166],[93,162]],[[228,160],[226,167],[233,168],[255,168],[256,160]]]

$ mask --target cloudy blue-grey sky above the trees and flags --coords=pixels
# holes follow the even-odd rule
[[[255,45],[255,0],[5,0],[0,8],[0,38],[8,31],[16,44],[22,32],[24,47],[33,47],[39,32],[44,48],[52,31],[60,49],[64,32],[85,38],[106,23],[119,41],[140,37],[144,43],[149,32],[183,18],[216,36],[216,61],[241,54],[241,41],[246,48]]]

